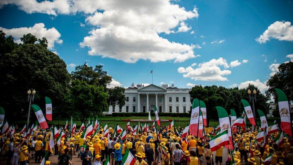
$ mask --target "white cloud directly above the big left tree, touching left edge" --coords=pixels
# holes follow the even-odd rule
[[[35,35],[37,38],[46,37],[48,40],[48,48],[53,49],[54,43],[62,44],[63,40],[60,39],[61,34],[52,27],[51,29],[45,28],[44,23],[36,23],[32,27],[20,27],[20,28],[12,28],[5,29],[0,27],[0,30],[6,33],[6,35],[12,35],[15,39],[15,42],[22,43],[20,38],[23,37],[24,34],[31,33]]]

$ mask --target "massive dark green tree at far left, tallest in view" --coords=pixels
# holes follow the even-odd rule
[[[11,43],[13,38],[1,39],[1,46],[8,45],[8,53],[1,54],[0,58],[0,105],[9,112],[5,118],[15,119],[27,115],[29,104],[26,92],[29,89],[37,91],[34,103],[42,109],[45,108],[44,97],[52,99],[54,117],[62,115],[66,108],[64,102],[70,82],[66,64],[44,47],[46,38],[42,39],[43,44],[35,43],[35,38],[30,34],[24,35],[24,43],[19,45]]]

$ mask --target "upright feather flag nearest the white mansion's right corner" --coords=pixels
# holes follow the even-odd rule
[[[189,124],[190,134],[197,135],[198,122],[199,122],[199,101],[198,99],[193,99],[191,118],[190,118],[190,124]]]

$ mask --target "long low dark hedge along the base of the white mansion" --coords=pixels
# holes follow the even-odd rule
[[[171,117],[190,117],[189,113],[164,113],[159,112],[159,116],[171,116]],[[110,115],[110,114],[109,114]],[[113,112],[112,117],[129,117],[129,116],[149,116],[146,112]],[[154,112],[151,112],[151,116],[155,116]]]

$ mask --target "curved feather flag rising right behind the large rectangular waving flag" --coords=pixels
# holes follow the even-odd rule
[[[218,116],[219,116],[219,123],[220,123],[220,127],[221,127],[221,132],[227,130],[229,140],[230,140],[230,142],[233,142],[231,127],[230,127],[230,119],[229,119],[227,111],[223,107],[220,107],[220,106],[216,106],[216,109],[217,109]],[[233,143],[230,143],[230,147],[226,146],[226,148],[233,149]]]

